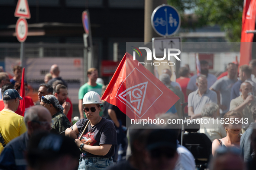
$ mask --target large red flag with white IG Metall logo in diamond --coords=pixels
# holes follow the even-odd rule
[[[179,98],[138,63],[129,53],[124,55],[102,100],[117,106],[130,119],[155,119]]]

